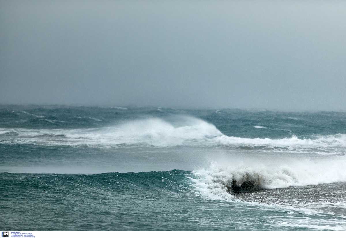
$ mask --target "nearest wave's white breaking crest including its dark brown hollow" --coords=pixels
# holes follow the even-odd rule
[[[269,162],[253,159],[246,163],[232,161],[232,164],[225,166],[213,162],[209,169],[195,170],[193,174],[198,179],[194,182],[208,194],[222,194],[221,198],[225,193],[233,195],[260,189],[346,182],[345,158]]]

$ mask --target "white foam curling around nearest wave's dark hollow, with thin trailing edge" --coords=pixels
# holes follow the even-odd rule
[[[324,213],[319,204],[313,206],[299,206],[297,204],[276,204],[246,202],[237,199],[229,193],[233,181],[237,184],[253,181],[259,189],[286,188],[289,186],[318,185],[335,182],[346,182],[345,158],[333,158],[328,160],[295,160],[287,161],[262,161],[258,159],[233,159],[228,165],[213,162],[208,169],[193,171],[192,180],[194,190],[200,196],[211,200],[223,200],[241,202],[254,206],[262,206],[268,209],[281,209],[303,212],[306,214]],[[228,187],[228,188],[227,188]],[[329,212],[328,214],[333,214]]]

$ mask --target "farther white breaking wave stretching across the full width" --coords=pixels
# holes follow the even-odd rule
[[[93,120],[98,118],[92,118]],[[53,121],[52,121],[53,123]],[[55,121],[54,121],[55,123]],[[46,145],[117,147],[230,147],[274,152],[345,153],[346,134],[315,135],[311,138],[241,138],[223,134],[217,127],[199,118],[175,116],[146,118],[119,123],[114,126],[91,129],[0,129],[0,134],[12,131],[17,136],[0,140],[0,143],[34,143]],[[52,140],[52,136],[35,140],[38,135],[64,135]]]

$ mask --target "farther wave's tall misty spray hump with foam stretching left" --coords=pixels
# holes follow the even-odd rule
[[[4,131],[8,129],[2,129]],[[185,144],[206,143],[208,140],[221,136],[222,133],[212,124],[203,120],[181,116],[170,118],[148,118],[124,122],[115,126],[99,129],[13,129],[19,136],[10,141],[0,143],[37,143],[47,145],[87,145],[117,146],[142,145],[155,147],[183,146]],[[34,137],[40,135],[64,135],[64,139],[52,140]],[[204,142],[203,142],[204,141]]]

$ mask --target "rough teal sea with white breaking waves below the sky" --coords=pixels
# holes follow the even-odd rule
[[[346,112],[0,105],[1,230],[346,230]]]

